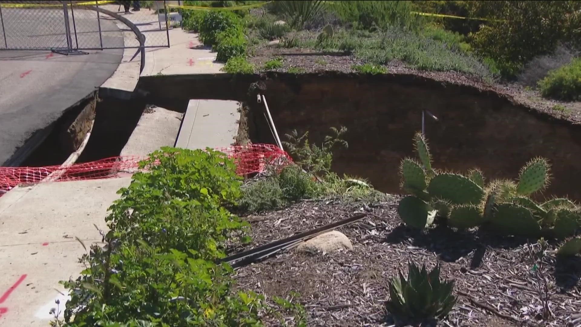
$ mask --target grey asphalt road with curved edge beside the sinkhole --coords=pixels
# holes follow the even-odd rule
[[[123,35],[110,17],[101,17],[99,37],[96,12],[75,10],[74,15],[80,47],[99,47],[101,41],[110,47],[123,46]],[[63,16],[62,9],[3,8],[6,44],[9,48],[66,47]],[[101,86],[119,66],[123,50],[69,56],[49,50],[3,51],[2,34],[0,30],[0,166],[15,166],[24,159],[17,150],[37,146],[42,137],[31,138],[35,133],[42,134],[70,106]]]

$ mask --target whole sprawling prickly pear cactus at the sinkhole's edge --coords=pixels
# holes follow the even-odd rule
[[[420,162],[405,158],[400,166],[401,187],[411,195],[400,201],[398,212],[408,226],[426,228],[437,215],[458,229],[489,224],[501,234],[556,238],[571,236],[581,226],[581,210],[568,199],[537,204],[529,198],[548,184],[546,159],[526,163],[518,183],[492,180],[485,184],[479,169],[467,175],[435,171],[421,133],[415,135],[414,143]]]

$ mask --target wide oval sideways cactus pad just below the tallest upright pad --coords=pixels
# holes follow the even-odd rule
[[[462,175],[442,173],[430,181],[428,193],[452,204],[478,204],[484,197],[482,187]]]

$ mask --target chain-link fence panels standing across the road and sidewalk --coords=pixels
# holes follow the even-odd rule
[[[165,1],[0,1],[0,50],[169,47]]]

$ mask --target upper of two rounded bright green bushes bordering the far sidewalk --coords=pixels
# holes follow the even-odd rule
[[[210,11],[200,24],[200,40],[205,45],[214,45],[218,41],[218,34],[226,30],[242,30],[238,16],[226,10]]]

